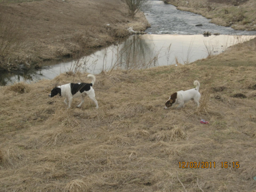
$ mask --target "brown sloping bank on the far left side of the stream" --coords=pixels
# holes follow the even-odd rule
[[[45,60],[81,57],[145,31],[143,13],[128,17],[119,0],[26,0],[0,3],[0,69],[15,71]]]

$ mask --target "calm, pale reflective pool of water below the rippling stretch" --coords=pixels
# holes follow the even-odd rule
[[[98,74],[112,69],[142,69],[154,66],[187,64],[225,51],[229,46],[256,36],[142,35],[130,36],[118,45],[111,45],[76,61],[67,60],[23,73],[2,73],[0,84],[53,79],[66,71]]]

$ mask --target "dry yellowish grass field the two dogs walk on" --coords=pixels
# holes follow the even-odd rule
[[[83,73],[0,87],[0,191],[256,192],[255,52],[253,39],[189,65],[102,73],[99,109],[48,97],[55,85],[88,82]],[[163,109],[194,80],[198,109]]]

